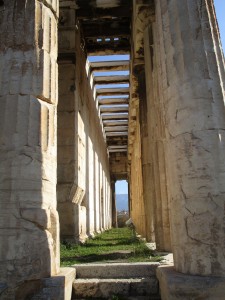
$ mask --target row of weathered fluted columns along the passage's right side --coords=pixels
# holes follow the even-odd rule
[[[172,249],[177,271],[224,276],[224,58],[213,1],[156,1],[143,42],[146,237]]]

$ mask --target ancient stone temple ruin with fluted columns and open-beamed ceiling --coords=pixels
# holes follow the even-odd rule
[[[125,179],[161,299],[223,300],[224,90],[213,0],[0,1],[0,299],[71,299]]]

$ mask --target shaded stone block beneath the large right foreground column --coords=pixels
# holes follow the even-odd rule
[[[156,275],[162,300],[224,299],[225,277],[182,274],[173,266],[158,267]]]

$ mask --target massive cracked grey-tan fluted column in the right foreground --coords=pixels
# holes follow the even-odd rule
[[[175,269],[224,276],[224,65],[212,1],[156,1],[156,26]]]

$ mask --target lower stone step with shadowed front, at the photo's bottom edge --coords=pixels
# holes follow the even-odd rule
[[[73,282],[72,299],[110,299],[113,295],[122,297],[148,296],[148,299],[160,299],[158,296],[158,282],[151,278],[123,278],[123,279],[76,279]]]

